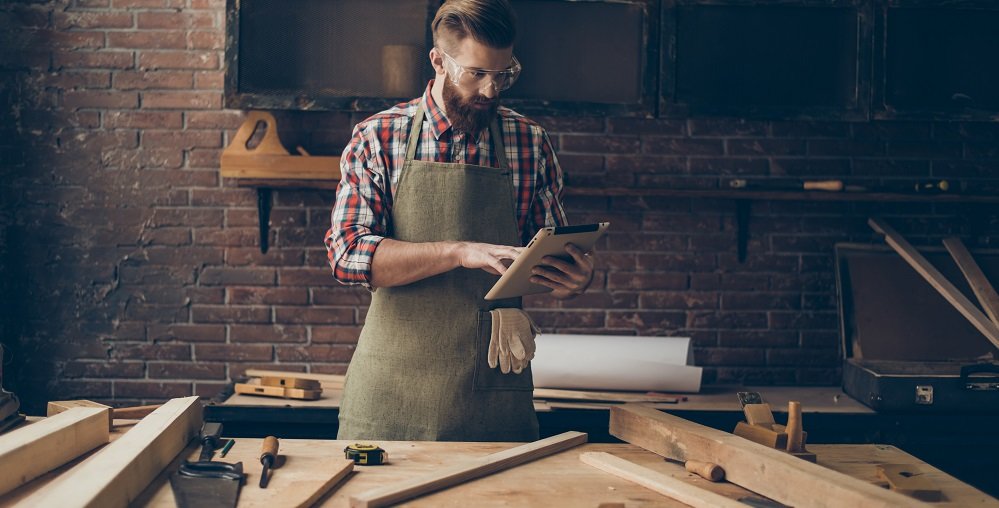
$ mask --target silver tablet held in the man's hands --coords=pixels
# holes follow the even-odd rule
[[[486,293],[486,300],[499,300],[516,296],[545,293],[552,289],[540,284],[534,284],[531,269],[541,263],[545,256],[555,256],[572,261],[572,256],[565,251],[565,245],[572,243],[584,251],[589,251],[597,240],[604,235],[609,222],[583,224],[579,226],[556,226],[542,228],[527,244],[527,248],[513,260],[506,273],[496,281],[493,288]]]

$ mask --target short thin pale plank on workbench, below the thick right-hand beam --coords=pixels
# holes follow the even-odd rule
[[[678,478],[653,471],[606,452],[579,454],[579,460],[612,475],[635,482],[664,496],[689,504],[694,508],[745,508],[746,505],[710,490],[705,490]]]

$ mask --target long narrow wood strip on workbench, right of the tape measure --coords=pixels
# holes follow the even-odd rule
[[[582,432],[565,432],[502,452],[463,461],[440,471],[365,492],[350,498],[354,508],[373,508],[400,503],[410,498],[493,474],[525,462],[540,459],[586,442]]]

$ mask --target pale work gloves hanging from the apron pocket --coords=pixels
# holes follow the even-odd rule
[[[499,365],[500,372],[504,374],[511,370],[520,374],[534,358],[537,325],[520,309],[493,309],[489,314],[492,316],[487,356],[489,367]]]

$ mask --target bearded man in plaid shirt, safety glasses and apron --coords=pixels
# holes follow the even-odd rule
[[[494,316],[522,312],[520,299],[483,299],[538,229],[567,225],[548,134],[499,103],[521,72],[514,25],[506,0],[445,2],[423,96],[359,123],[343,152],[329,262],[373,292],[339,439],[538,438],[530,365],[490,367]],[[559,299],[593,275],[566,250],[571,261],[546,258],[532,276]]]

